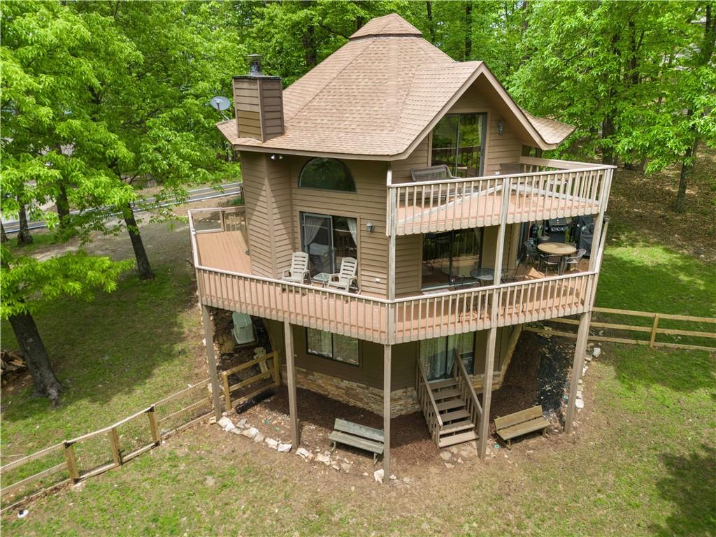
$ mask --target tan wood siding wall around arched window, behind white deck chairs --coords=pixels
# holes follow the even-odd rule
[[[357,219],[358,279],[362,292],[387,296],[388,241],[385,234],[386,163],[343,160],[356,183],[356,192],[299,188],[299,174],[308,158],[289,157],[291,199],[294,211],[294,243],[301,246],[299,213],[310,212]],[[374,226],[373,233],[366,228]],[[379,279],[379,281],[376,281]]]

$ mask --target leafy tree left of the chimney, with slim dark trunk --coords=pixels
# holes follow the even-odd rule
[[[209,103],[216,95],[231,95],[231,75],[243,64],[243,50],[236,29],[223,24],[226,6],[216,2],[79,2],[69,9],[104,21],[135,54],[132,62],[108,64],[89,98],[92,119],[107,125],[127,151],[127,158],[105,160],[107,169],[135,198],[92,211],[110,233],[118,228],[107,218],[122,216],[140,279],[150,279],[135,206],[155,209],[156,219],[173,217],[165,203],[185,200],[190,185],[238,177],[235,163],[217,158],[226,151],[215,126],[221,118]],[[153,190],[151,205],[147,188]]]

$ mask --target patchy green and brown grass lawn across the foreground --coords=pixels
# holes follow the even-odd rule
[[[2,530],[8,536],[714,535],[714,357],[616,345],[603,357],[586,377],[588,413],[578,418],[576,436],[518,445],[509,459],[500,453],[487,463],[411,474],[410,488],[332,470],[313,470],[316,479],[294,455],[202,426],[80,490],[31,505],[23,520],[5,517]],[[395,467],[402,477],[399,460]]]

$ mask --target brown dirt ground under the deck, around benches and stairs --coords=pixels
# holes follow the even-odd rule
[[[563,396],[573,353],[574,344],[570,342],[559,338],[540,337],[531,332],[523,333],[505,374],[503,386],[493,392],[490,420],[542,403],[543,410],[550,418],[551,427],[550,437],[547,439],[535,433],[515,440],[513,453],[519,453],[526,447],[529,450],[557,448],[558,444],[553,440],[561,436],[565,402]],[[232,362],[236,363],[237,359],[238,356]],[[251,389],[253,390],[253,387]],[[478,397],[481,398],[481,395]],[[375,468],[380,468],[380,463],[373,465],[372,454],[362,450],[340,446],[336,452],[329,454],[331,442],[328,437],[337,417],[382,429],[381,416],[300,388],[297,390],[297,404],[301,422],[301,447],[311,453],[330,455],[332,462],[349,464],[349,473],[372,475]],[[238,412],[234,410],[229,413],[228,417],[235,423],[246,420],[247,426],[256,427],[264,437],[279,442],[291,442],[289,401],[285,387],[274,391],[266,400],[248,408],[246,406],[237,409]],[[491,423],[490,435],[493,434],[494,425]],[[450,452],[451,457],[447,461],[441,458],[440,450],[430,439],[425,418],[420,412],[394,418],[390,436],[394,468],[399,468],[403,474],[415,475],[426,468],[450,468],[477,457],[475,442],[471,442],[443,450]],[[488,445],[491,458],[507,453],[494,436],[490,437]]]

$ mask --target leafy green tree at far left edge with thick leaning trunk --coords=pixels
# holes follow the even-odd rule
[[[57,213],[43,206],[60,188],[77,205],[103,205],[134,198],[108,173],[109,159],[127,153],[101,122],[89,116],[88,88],[97,87],[108,57],[127,59],[122,40],[102,34],[102,20],[72,14],[57,2],[4,2],[0,47],[2,138],[1,211],[57,226]],[[99,38],[102,34],[101,38]],[[72,152],[59,150],[72,144]],[[70,154],[67,154],[70,153]],[[66,221],[85,231],[82,219]],[[33,314],[62,295],[92,298],[93,289],[111,291],[130,263],[87,256],[81,251],[38,261],[0,247],[0,316],[8,319],[34,379],[35,391],[57,402],[60,387]]]

